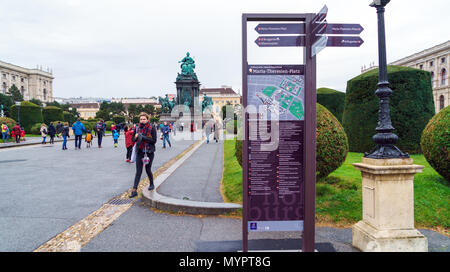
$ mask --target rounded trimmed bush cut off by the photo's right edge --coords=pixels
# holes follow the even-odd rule
[[[450,181],[450,106],[430,120],[423,130],[420,146],[431,167]]]

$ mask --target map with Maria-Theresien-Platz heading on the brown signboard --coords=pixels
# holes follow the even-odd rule
[[[269,120],[304,120],[304,66],[250,65],[247,99],[262,106]]]

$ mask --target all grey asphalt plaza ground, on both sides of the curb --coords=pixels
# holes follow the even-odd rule
[[[133,183],[135,165],[125,163],[123,136],[98,149],[61,150],[61,143],[0,149],[0,251],[33,251],[68,229]],[[195,140],[172,141],[157,151],[152,170],[177,157]],[[222,202],[219,191],[223,142],[201,146],[160,186],[173,198]],[[142,178],[146,174],[143,173]],[[450,239],[429,230],[430,251],[450,251]],[[316,228],[318,251],[352,252],[351,229]],[[298,250],[298,232],[252,233],[250,250]],[[225,216],[177,215],[136,201],[81,251],[238,251],[242,221]]]

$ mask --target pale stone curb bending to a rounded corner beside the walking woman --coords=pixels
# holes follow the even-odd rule
[[[142,190],[142,201],[152,208],[169,212],[183,212],[195,215],[221,215],[232,213],[242,208],[242,205],[235,203],[222,202],[203,202],[172,198],[161,195],[157,192],[159,186],[166,181],[166,179],[186,161],[197,149],[203,144],[196,145],[182,158],[177,160],[172,166],[161,173],[154,181],[155,190],[148,191],[146,188]]]

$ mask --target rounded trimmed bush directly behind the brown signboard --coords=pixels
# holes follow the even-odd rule
[[[316,176],[320,179],[344,163],[348,153],[348,140],[341,123],[320,104],[317,104],[316,123]],[[236,159],[242,166],[242,141],[236,140],[235,148]]]

